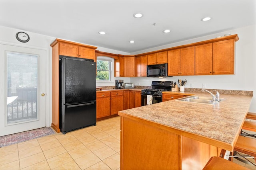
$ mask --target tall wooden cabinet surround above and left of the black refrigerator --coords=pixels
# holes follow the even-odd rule
[[[59,89],[59,56],[84,57],[95,60],[95,49],[90,45],[84,45],[62,39],[55,39],[50,46],[52,47],[52,128],[60,132],[60,89]]]

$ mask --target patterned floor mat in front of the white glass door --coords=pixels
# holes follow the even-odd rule
[[[43,127],[40,129],[31,130],[31,131],[25,131],[25,132],[15,133],[12,135],[2,136],[0,137],[0,147],[5,147],[15,143],[36,139],[39,137],[44,137],[54,133],[55,131],[52,130],[51,127]]]

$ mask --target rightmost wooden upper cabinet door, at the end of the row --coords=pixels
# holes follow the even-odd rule
[[[213,43],[213,74],[234,74],[234,39]]]

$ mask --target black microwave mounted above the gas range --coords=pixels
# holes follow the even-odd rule
[[[167,63],[148,65],[147,76],[148,77],[166,77],[167,76]]]

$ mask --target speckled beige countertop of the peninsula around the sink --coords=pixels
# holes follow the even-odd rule
[[[175,93],[211,97],[208,93],[172,92]],[[217,141],[216,145],[222,146],[224,143],[227,150],[232,150],[250,107],[252,96],[222,94],[220,98],[225,100],[214,105],[170,100],[119,111],[118,115],[138,117],[184,131],[185,134],[193,134],[194,137],[213,139]],[[196,140],[200,141],[200,138]]]

